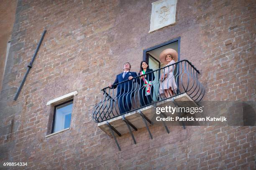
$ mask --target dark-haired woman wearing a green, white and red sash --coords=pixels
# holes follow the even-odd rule
[[[140,72],[138,75],[140,77],[140,80],[138,83],[140,84],[140,102],[141,107],[148,105],[152,102],[154,87],[152,85],[152,82],[155,80],[155,75],[152,69],[149,69],[149,65],[146,61],[141,62]],[[147,74],[148,72],[151,72]]]

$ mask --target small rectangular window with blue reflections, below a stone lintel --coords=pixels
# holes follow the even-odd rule
[[[72,115],[73,100],[54,106],[54,117],[51,133],[69,128]]]

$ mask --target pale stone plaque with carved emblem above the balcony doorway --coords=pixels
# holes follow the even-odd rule
[[[159,0],[152,3],[150,30],[158,30],[175,23],[177,0]]]

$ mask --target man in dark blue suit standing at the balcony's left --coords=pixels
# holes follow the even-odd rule
[[[130,72],[131,64],[129,62],[124,63],[123,65],[123,72],[116,76],[115,82],[113,85],[109,84],[108,87],[111,89],[115,89],[118,87],[117,90],[117,100],[118,100],[118,107],[120,110],[120,114],[128,112],[131,110],[131,97],[133,97],[133,77],[137,77],[136,72]],[[125,80],[130,80],[124,83]]]

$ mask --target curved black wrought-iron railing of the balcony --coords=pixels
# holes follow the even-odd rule
[[[93,120],[103,122],[185,92],[195,102],[199,102],[205,89],[197,79],[198,74],[200,72],[191,62],[181,60],[148,72],[144,77],[140,75],[133,80],[117,83],[113,85],[114,88],[105,87],[102,89],[102,100],[94,107]],[[144,80],[147,80],[148,85]],[[169,87],[173,90],[164,90]]]

